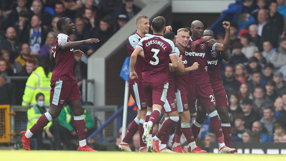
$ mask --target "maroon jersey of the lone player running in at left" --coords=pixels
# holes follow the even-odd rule
[[[59,47],[61,42],[70,42],[71,39],[64,33],[59,32],[55,39],[52,52],[55,58],[55,68],[52,72],[51,80],[76,80],[74,75],[74,49],[62,50]]]

